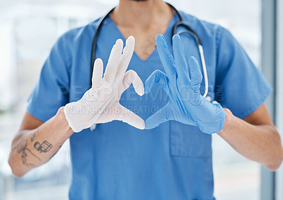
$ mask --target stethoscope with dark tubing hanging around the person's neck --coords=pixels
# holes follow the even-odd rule
[[[188,26],[183,21],[183,17],[179,13],[179,11],[177,9],[175,9],[175,7],[172,6],[171,4],[168,4],[168,5],[171,7],[171,9],[173,9],[175,11],[175,13],[178,15],[178,18],[180,19],[180,21],[178,21],[174,24],[173,29],[172,29],[172,35],[175,35],[175,34],[180,35],[182,33],[189,33],[190,35],[193,36],[193,38],[195,38],[195,41],[197,43],[197,48],[198,48],[199,53],[200,53],[200,60],[202,62],[202,71],[203,71],[203,74],[204,74],[204,94],[202,96],[204,98],[206,98],[208,101],[212,101],[212,98],[210,96],[207,96],[209,84],[208,84],[208,77],[207,77],[207,65],[206,65],[205,60],[204,60],[204,50],[203,50],[203,47],[202,47],[202,40],[200,40],[200,37],[197,35],[197,33],[195,33],[195,30],[192,30],[192,28],[190,26]],[[99,34],[99,31],[100,31],[100,28],[103,25],[103,21],[105,21],[105,19],[108,18],[108,16],[110,16],[110,13],[112,13],[112,11],[114,9],[115,8],[111,9],[104,17],[100,18],[100,20],[96,24],[96,30],[94,32],[93,45],[92,45],[92,49],[91,49],[91,78],[92,78],[92,74],[93,74],[93,64],[94,64],[94,61],[96,59],[96,43],[97,43],[97,40],[98,40],[98,34]],[[186,29],[180,30],[180,31],[177,32],[178,26],[184,26]],[[91,87],[91,82],[90,82],[90,87]],[[94,130],[95,128],[96,128],[96,124],[93,124],[93,126],[91,126],[91,130]]]

